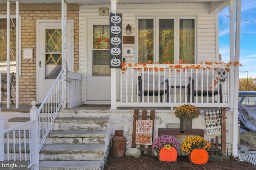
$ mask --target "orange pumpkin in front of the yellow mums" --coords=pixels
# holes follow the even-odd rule
[[[192,150],[190,154],[190,158],[194,164],[200,165],[200,164],[205,164],[208,161],[209,155],[205,149],[195,148]]]

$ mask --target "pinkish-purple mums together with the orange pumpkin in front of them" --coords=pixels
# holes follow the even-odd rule
[[[158,153],[160,161],[176,161],[179,147],[178,140],[171,135],[163,134],[156,137],[152,144],[152,150]]]

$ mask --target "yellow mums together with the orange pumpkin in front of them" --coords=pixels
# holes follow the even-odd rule
[[[205,164],[209,155],[206,150],[211,147],[210,142],[202,136],[189,136],[181,143],[182,152],[188,153],[188,159],[194,164]]]

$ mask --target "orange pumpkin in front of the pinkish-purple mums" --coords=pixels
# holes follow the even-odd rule
[[[171,161],[176,161],[178,153],[176,148],[174,148],[173,146],[170,147],[170,150],[166,149],[165,147],[163,147],[160,150],[160,159],[162,161],[167,161],[167,162],[171,162]]]

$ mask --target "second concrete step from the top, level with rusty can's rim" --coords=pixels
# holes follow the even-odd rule
[[[50,144],[105,144],[106,130],[56,130],[50,133]]]

